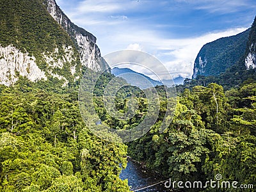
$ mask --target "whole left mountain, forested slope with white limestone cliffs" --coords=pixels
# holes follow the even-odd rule
[[[56,78],[66,86],[79,79],[82,66],[108,68],[95,62],[100,57],[96,38],[72,24],[55,1],[1,0],[0,9],[1,84],[10,86],[23,76],[30,81]]]

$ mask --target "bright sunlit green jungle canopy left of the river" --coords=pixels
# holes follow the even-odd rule
[[[0,88],[0,191],[129,191],[127,146],[93,136],[77,87],[54,80]]]

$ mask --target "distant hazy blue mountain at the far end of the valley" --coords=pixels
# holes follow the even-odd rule
[[[166,85],[166,86],[172,86],[173,82],[174,84],[183,84],[184,78],[177,77],[175,79],[170,80],[163,80],[163,83],[160,81],[156,81],[154,79],[151,79],[148,76],[145,76],[144,74],[135,72],[134,70],[131,70],[130,68],[118,68],[115,67],[111,70],[111,73],[115,76],[122,77],[127,81],[127,83],[132,84],[133,86],[138,86],[141,89],[150,88],[154,86],[160,86],[160,85]]]

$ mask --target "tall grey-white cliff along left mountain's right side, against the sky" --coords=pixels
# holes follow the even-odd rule
[[[92,68],[92,70],[95,71],[109,68],[106,62],[100,62],[103,65],[99,65],[99,63],[96,62],[96,60],[100,58],[100,50],[96,45],[95,36],[71,22],[67,15],[61,11],[55,0],[45,0],[44,4],[54,20],[56,20],[72,38],[80,54],[82,65]]]

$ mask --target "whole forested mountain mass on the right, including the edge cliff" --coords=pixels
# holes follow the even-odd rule
[[[196,85],[202,85],[207,86],[209,83],[218,83],[221,84],[225,90],[228,90],[232,87],[239,86],[244,83],[244,81],[255,81],[256,80],[256,72],[255,72],[255,63],[256,63],[256,54],[255,54],[255,42],[256,42],[256,20],[254,19],[252,27],[243,33],[239,33],[236,36],[231,36],[227,38],[221,38],[219,40],[216,40],[214,42],[211,42],[209,44],[204,45],[204,47],[208,47],[209,49],[205,49],[202,47],[201,51],[198,53],[198,56],[195,61],[194,66],[194,74],[193,79],[185,79],[184,84],[186,84],[187,88],[193,88],[193,86]],[[237,50],[239,54],[233,55],[236,50],[236,38],[239,40],[242,40],[245,38],[245,35],[248,35],[247,39],[244,39],[243,46],[242,42],[238,41],[237,43],[240,44],[240,47],[244,47],[244,53],[241,54],[241,49]],[[246,35],[246,36],[247,36]],[[240,38],[238,38],[240,36]],[[234,41],[232,41],[232,39]],[[217,49],[214,47],[214,44],[218,44],[218,42],[224,42],[230,40],[231,44],[227,42],[227,44],[232,45],[228,49],[227,46],[223,45],[223,49],[221,47],[218,47],[218,52],[220,54],[216,54],[213,52],[211,54],[211,62],[212,61],[218,61],[217,63],[210,63],[212,66],[208,65],[209,62],[203,62],[202,58],[200,58],[200,54],[203,52],[209,52],[209,50],[215,50]],[[212,45],[212,46],[210,46]],[[219,44],[218,44],[219,45]],[[238,46],[239,47],[239,46]],[[210,51],[211,52],[211,51]],[[232,53],[232,54],[230,54]],[[221,59],[222,58],[222,59]],[[221,60],[220,60],[221,59]],[[237,61],[235,61],[235,60]],[[223,65],[227,64],[227,61],[234,60],[234,63],[232,63],[231,66],[227,67],[225,70],[224,68],[219,70]],[[199,62],[200,61],[200,62]],[[200,65],[201,67],[200,67]],[[211,68],[210,68],[211,67]],[[212,72],[212,74],[209,74],[209,72]],[[216,72],[218,72],[216,74]]]

